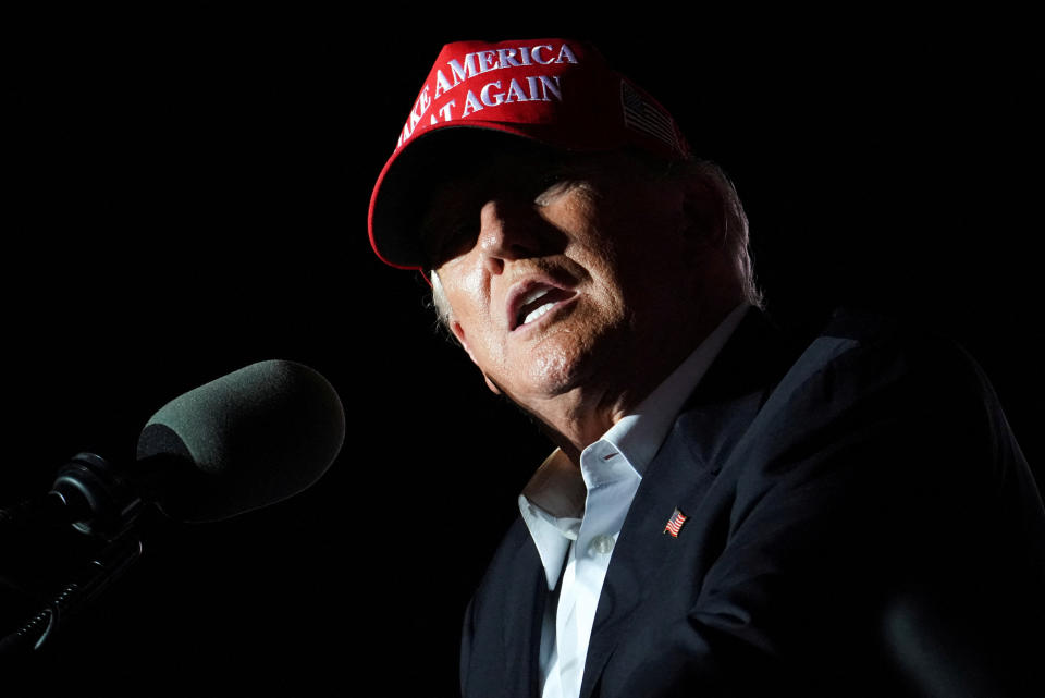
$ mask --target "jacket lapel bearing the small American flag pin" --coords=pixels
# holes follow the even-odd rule
[[[647,468],[620,530],[599,598],[581,698],[592,695],[636,610],[655,592],[659,571],[679,549],[664,534],[673,512],[696,511],[795,356],[795,347],[751,310],[687,401]]]

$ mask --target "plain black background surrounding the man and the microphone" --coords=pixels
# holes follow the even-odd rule
[[[434,332],[420,279],[374,258],[366,213],[431,62],[460,38],[593,39],[733,176],[771,314],[811,327],[859,303],[958,340],[1041,479],[1025,17],[603,27],[527,8],[3,23],[0,503],[46,491],[77,451],[130,458],[164,402],[255,360],[315,367],[349,420],[314,488],[160,525],[24,669],[118,694],[455,694],[464,607],[549,446]]]

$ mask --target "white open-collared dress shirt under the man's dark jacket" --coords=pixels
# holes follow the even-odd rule
[[[747,308],[737,306],[635,413],[585,449],[579,474],[556,449],[519,495],[548,588],[558,587],[557,604],[548,604],[541,632],[542,698],[580,694],[602,583],[642,474]]]

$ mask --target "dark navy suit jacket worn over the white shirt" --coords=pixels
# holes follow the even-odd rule
[[[466,698],[538,696],[551,596],[518,521]],[[1045,696],[1043,597],[1041,497],[971,359],[849,314],[796,346],[752,311],[636,494],[581,697]]]

